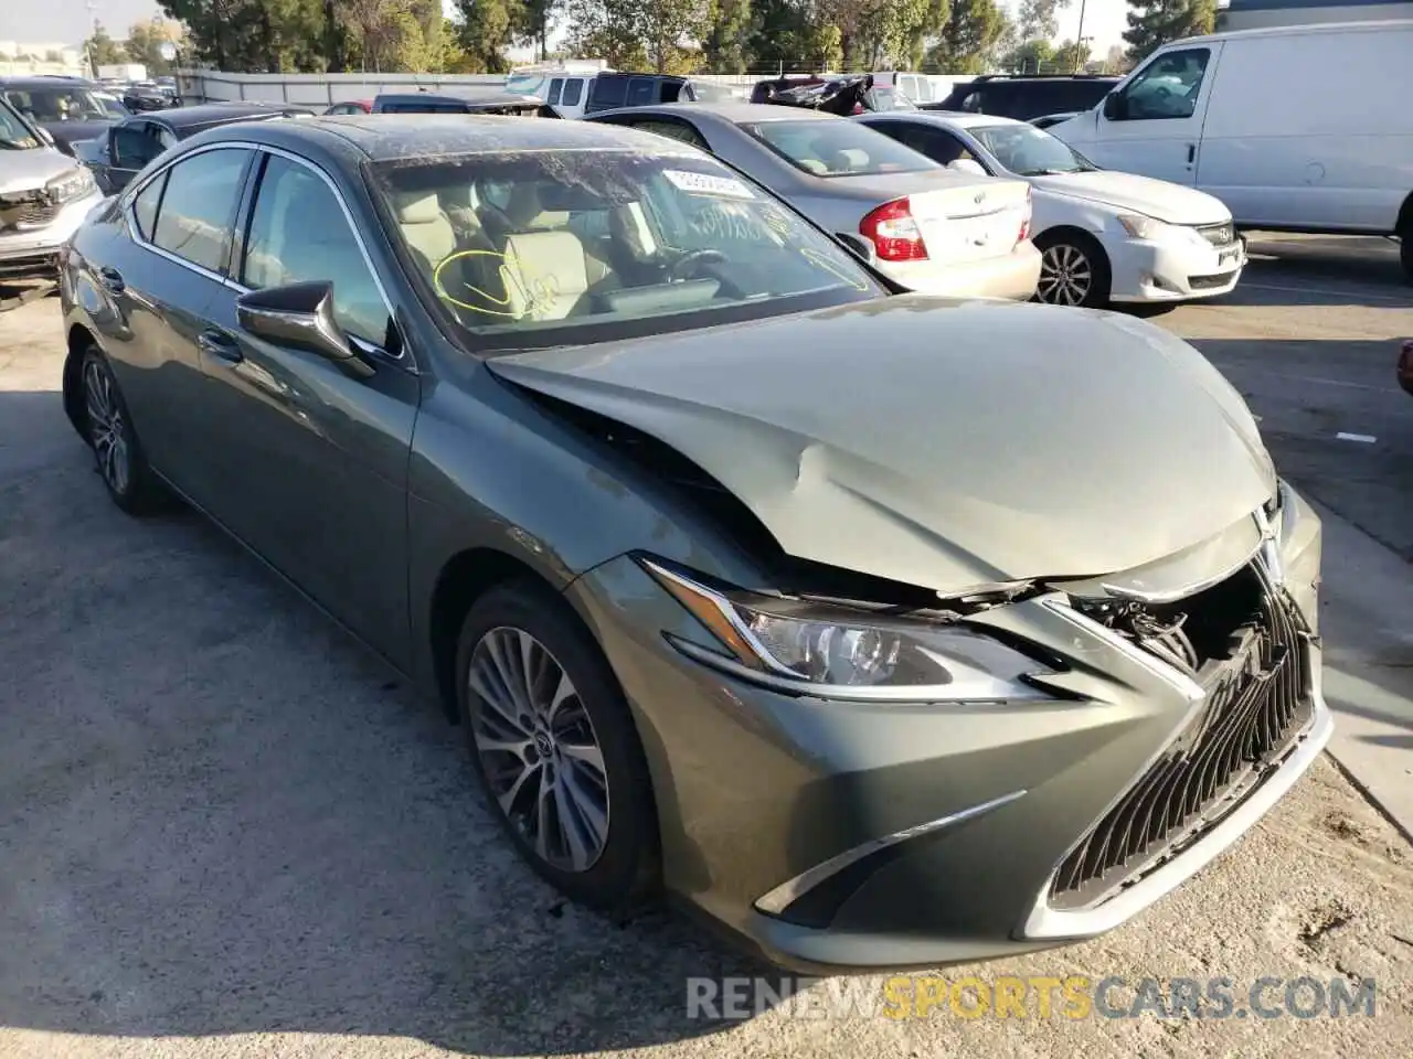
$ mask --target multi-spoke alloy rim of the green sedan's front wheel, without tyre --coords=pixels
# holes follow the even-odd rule
[[[500,810],[547,864],[582,873],[609,836],[603,750],[579,693],[538,640],[489,630],[471,655],[471,734]]]

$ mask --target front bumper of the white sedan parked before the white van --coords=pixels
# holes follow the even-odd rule
[[[1246,267],[1246,247],[1125,239],[1105,246],[1115,302],[1177,302],[1229,294]]]

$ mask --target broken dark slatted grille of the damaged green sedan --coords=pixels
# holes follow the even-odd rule
[[[1207,695],[1183,731],[1061,861],[1056,908],[1102,902],[1195,840],[1273,771],[1310,722],[1307,642],[1284,592],[1255,566],[1256,613],[1225,658],[1198,672]],[[1166,659],[1171,664],[1171,659]]]

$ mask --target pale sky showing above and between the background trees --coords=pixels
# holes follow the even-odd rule
[[[79,44],[89,35],[89,0],[0,0],[0,41],[21,44]],[[92,0],[97,20],[117,38],[127,27],[158,11],[154,0]],[[1016,0],[1003,0],[1015,11]],[[1074,38],[1081,0],[1060,13],[1060,37]],[[1125,0],[1085,0],[1084,35],[1094,37],[1094,54],[1102,56],[1123,32]]]

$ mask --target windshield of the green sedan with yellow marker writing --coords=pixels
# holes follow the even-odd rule
[[[373,167],[435,312],[526,349],[841,305],[866,270],[699,152],[564,150]]]

